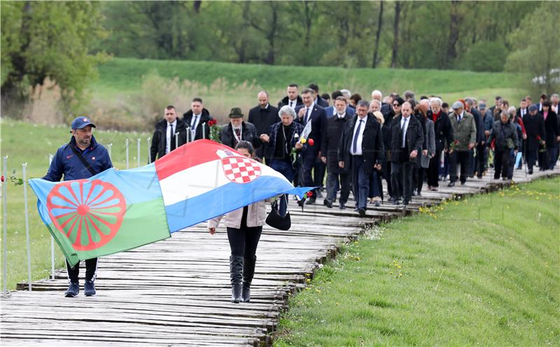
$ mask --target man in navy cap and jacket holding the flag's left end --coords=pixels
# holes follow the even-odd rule
[[[43,180],[58,182],[62,176],[64,176],[64,180],[80,180],[90,178],[113,167],[106,148],[95,141],[92,134],[92,128],[94,127],[95,125],[90,121],[90,118],[85,116],[73,120],[70,142],[58,148]],[[66,262],[66,269],[68,271],[69,287],[64,295],[75,297],[80,291],[78,282],[80,264],[71,267]],[[97,258],[85,260],[84,294],[86,297],[95,295],[96,272]]]

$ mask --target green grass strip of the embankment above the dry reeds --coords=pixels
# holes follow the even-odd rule
[[[349,88],[363,93],[369,99],[373,89],[384,93],[410,89],[421,94],[471,92],[488,89],[488,95],[461,94],[475,97],[494,96],[501,90],[506,96],[523,94],[515,89],[517,75],[512,73],[479,73],[471,71],[427,70],[427,69],[344,69],[326,66],[269,66],[261,64],[233,64],[221,62],[191,62],[176,60],[153,60],[113,58],[99,66],[99,80],[92,89],[107,95],[113,92],[136,92],[141,89],[142,76],[157,71],[165,78],[179,77],[211,85],[223,78],[232,85],[254,83],[267,90],[285,90],[289,83],[308,85],[317,83],[321,92],[332,92]],[[251,91],[255,94],[256,91]],[[477,93],[477,92],[475,92]],[[254,97],[254,95],[253,95]],[[254,99],[256,99],[254,97]],[[517,103],[516,103],[517,104]]]

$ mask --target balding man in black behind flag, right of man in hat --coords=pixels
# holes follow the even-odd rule
[[[270,126],[280,121],[278,116],[278,108],[269,104],[268,93],[261,90],[257,94],[258,105],[249,111],[248,122],[255,125],[257,135],[267,134]],[[269,145],[258,139],[256,143],[257,157],[269,157]],[[267,163],[269,164],[269,163]]]

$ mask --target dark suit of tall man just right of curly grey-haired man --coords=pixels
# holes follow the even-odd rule
[[[295,108],[295,114],[300,112],[304,108],[304,105],[297,106]],[[295,122],[301,125],[306,125],[306,116],[302,118],[297,117]],[[305,151],[303,158],[303,177],[304,185],[307,187],[323,187],[323,178],[325,177],[325,164],[321,162],[321,158],[318,157],[318,153],[321,151],[321,140],[323,137],[323,132],[327,126],[327,115],[325,109],[317,104],[313,104],[311,108],[311,113],[307,116],[307,122],[311,120],[311,133],[309,133],[308,139],[313,139],[314,146],[308,146]],[[311,177],[311,170],[314,169],[314,177]],[[317,190],[314,191],[316,197]],[[314,197],[311,201],[314,201]]]

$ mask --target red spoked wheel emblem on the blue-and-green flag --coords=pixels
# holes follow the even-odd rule
[[[123,194],[102,180],[72,180],[55,185],[47,197],[52,224],[76,250],[94,250],[117,234],[126,212]]]

